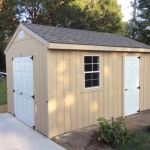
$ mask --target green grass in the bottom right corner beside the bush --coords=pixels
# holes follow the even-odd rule
[[[124,145],[118,145],[116,150],[150,150],[150,132],[148,127],[132,133],[130,140]]]

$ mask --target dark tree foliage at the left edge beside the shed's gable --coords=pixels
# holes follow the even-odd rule
[[[17,0],[0,1],[0,69],[5,67],[4,49],[19,24],[19,20],[16,18],[17,4]]]

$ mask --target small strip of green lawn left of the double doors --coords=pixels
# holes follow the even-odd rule
[[[2,78],[4,82],[0,79],[0,105],[7,104],[7,86],[6,86],[6,78]]]

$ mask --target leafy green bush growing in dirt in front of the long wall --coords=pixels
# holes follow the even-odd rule
[[[130,138],[130,130],[127,129],[124,121],[115,121],[112,124],[104,118],[99,118],[97,121],[100,127],[99,141],[116,145],[124,144]]]

